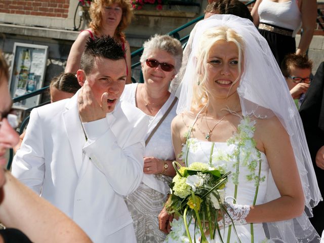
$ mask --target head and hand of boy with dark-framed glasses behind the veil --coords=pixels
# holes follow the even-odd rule
[[[281,72],[298,109],[312,80],[312,65],[312,61],[306,55],[296,54],[287,55],[281,63]]]

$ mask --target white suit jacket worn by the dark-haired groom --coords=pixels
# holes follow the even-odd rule
[[[94,242],[121,242],[111,234],[132,223],[123,196],[142,180],[147,125],[139,109],[118,102],[106,118],[85,124],[86,142],[77,94],[35,108],[12,174],[72,218]]]

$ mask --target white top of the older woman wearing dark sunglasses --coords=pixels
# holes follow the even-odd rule
[[[123,95],[120,99],[123,99],[132,105],[136,106],[136,89],[138,84],[130,84],[125,86]],[[175,96],[170,94],[169,99],[161,107],[161,109],[156,113],[155,116],[149,117],[148,131],[145,139],[151,134],[152,130],[155,128],[158,121],[163,117],[164,113],[169,109]],[[177,102],[178,103],[178,102]],[[171,121],[176,116],[177,103],[173,106],[170,113],[167,115],[163,123],[160,124],[158,129],[155,131],[154,135],[150,139],[149,143],[146,145],[144,157],[156,157],[164,160],[175,159],[175,154],[172,146],[171,139]],[[143,112],[144,113],[144,112]],[[170,191],[169,183],[171,182],[170,177],[166,175],[152,175],[144,174],[142,182],[149,186],[150,188],[167,194]]]

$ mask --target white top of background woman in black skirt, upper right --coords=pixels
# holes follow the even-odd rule
[[[258,14],[262,23],[294,30],[293,37],[295,37],[302,24],[302,14],[298,8],[297,0],[284,3],[262,0],[258,8]]]

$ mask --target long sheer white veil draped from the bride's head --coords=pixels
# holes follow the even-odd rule
[[[266,40],[254,24],[233,15],[213,15],[197,23],[186,71],[182,79],[177,113],[190,110],[193,82],[197,82],[195,52],[199,37],[207,29],[226,25],[240,34],[245,42],[244,73],[237,89],[242,114],[267,118],[276,115],[290,135],[290,141],[305,195],[305,212],[286,221],[264,223],[267,236],[275,242],[317,242],[318,234],[310,224],[312,208],[321,200],[312,161],[309,155],[302,121],[290,95],[284,76],[275,61]],[[178,91],[179,92],[179,91]],[[271,173],[266,201],[280,196]],[[307,217],[308,216],[308,217]],[[319,242],[319,237],[318,237]]]

